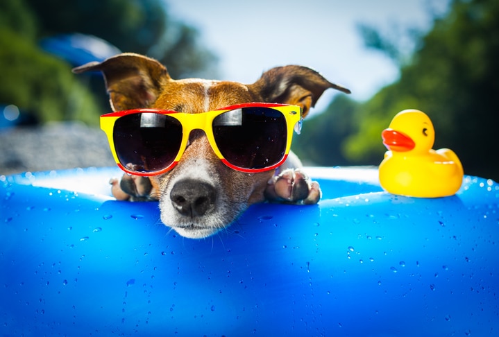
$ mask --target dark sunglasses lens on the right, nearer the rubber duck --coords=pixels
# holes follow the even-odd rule
[[[285,155],[286,119],[269,107],[243,107],[213,120],[213,134],[225,159],[242,168],[266,168]]]

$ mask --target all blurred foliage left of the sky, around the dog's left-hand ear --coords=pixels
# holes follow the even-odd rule
[[[110,109],[102,78],[74,76],[72,65],[38,45],[66,33],[157,58],[174,78],[215,74],[217,59],[201,46],[198,31],[171,19],[161,0],[2,0],[0,104],[17,105],[41,122],[99,122]]]

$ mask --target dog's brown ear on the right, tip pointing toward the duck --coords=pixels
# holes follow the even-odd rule
[[[349,89],[330,83],[317,71],[296,65],[270,69],[250,87],[260,93],[264,102],[300,106],[304,117],[325,89],[332,88],[350,94]]]

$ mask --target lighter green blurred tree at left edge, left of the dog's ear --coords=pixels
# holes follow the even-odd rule
[[[92,94],[69,64],[36,44],[35,13],[21,0],[0,2],[0,103],[15,104],[40,121],[81,119],[96,123]],[[71,112],[71,114],[69,114]]]

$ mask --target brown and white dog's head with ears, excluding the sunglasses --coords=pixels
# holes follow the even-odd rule
[[[89,70],[103,72],[115,111],[150,107],[196,114],[258,102],[298,105],[304,117],[325,89],[349,92],[316,71],[295,65],[270,69],[251,85],[174,80],[156,60],[133,53],[85,64],[75,72]],[[202,238],[228,226],[248,205],[263,201],[273,173],[229,168],[214,154],[205,133],[194,130],[175,168],[151,177],[151,183],[159,193],[162,222],[183,236]]]

